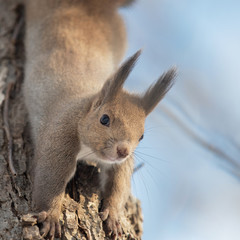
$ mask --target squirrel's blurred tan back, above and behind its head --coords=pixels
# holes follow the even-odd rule
[[[97,92],[116,70],[126,47],[117,7],[128,2],[27,1],[24,97],[33,128],[62,101]]]

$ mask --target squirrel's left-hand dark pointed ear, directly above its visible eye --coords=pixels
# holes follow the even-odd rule
[[[128,58],[115,72],[115,74],[113,74],[113,76],[105,82],[100,92],[98,104],[104,104],[116,97],[119,90],[122,89],[125,80],[132,71],[140,54],[141,50],[137,51],[132,57]]]

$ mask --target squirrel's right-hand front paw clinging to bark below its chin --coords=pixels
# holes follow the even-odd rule
[[[103,227],[106,235],[111,236],[113,239],[117,239],[122,236],[122,227],[117,211],[106,208],[100,212],[99,215],[104,221]]]

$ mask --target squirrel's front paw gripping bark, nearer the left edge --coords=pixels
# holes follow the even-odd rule
[[[53,240],[54,237],[61,237],[61,226],[59,224],[59,214],[52,212],[42,211],[35,215],[37,222],[42,226],[40,227],[40,234],[42,237],[48,237]]]

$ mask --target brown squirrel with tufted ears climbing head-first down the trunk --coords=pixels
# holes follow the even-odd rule
[[[164,73],[143,94],[123,84],[140,51],[121,66],[126,32],[118,7],[129,0],[27,0],[24,101],[34,145],[32,200],[43,237],[60,237],[62,199],[77,161],[101,169],[108,233],[121,236],[133,152],[144,122],[174,83]]]

